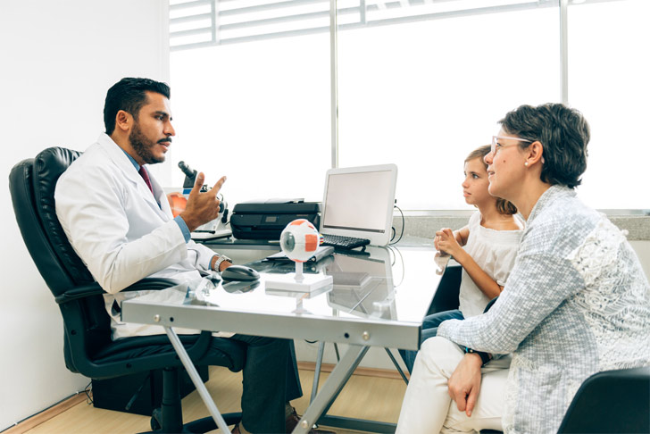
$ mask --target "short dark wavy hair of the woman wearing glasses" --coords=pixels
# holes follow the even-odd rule
[[[551,185],[576,188],[587,170],[591,133],[578,110],[564,104],[521,105],[499,123],[508,135],[539,141],[543,146],[540,178]],[[520,142],[521,149],[530,146]]]

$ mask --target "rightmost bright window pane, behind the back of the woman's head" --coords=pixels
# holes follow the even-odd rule
[[[600,209],[648,209],[650,2],[575,4],[568,20],[569,101],[591,126],[578,194]]]

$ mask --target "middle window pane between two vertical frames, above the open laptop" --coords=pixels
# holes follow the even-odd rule
[[[547,7],[339,31],[339,165],[396,163],[404,209],[468,208],[467,154],[512,108],[559,101],[558,36]]]

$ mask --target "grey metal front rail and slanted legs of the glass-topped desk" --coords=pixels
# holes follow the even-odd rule
[[[439,271],[441,275],[444,268]],[[431,294],[433,296],[433,294]],[[429,300],[430,301],[430,300]],[[171,340],[191,380],[204,400],[212,418],[223,432],[229,432],[225,421],[214,405],[212,397],[189,359],[185,348],[173,327],[195,330],[231,330],[237,324],[237,333],[266,336],[271,338],[298,338],[324,342],[345,343],[346,353],[341,357],[322,388],[312,395],[294,433],[304,434],[315,423],[344,427],[352,430],[371,430],[390,433],[395,424],[377,421],[361,421],[351,418],[329,416],[327,411],[337,398],[347,380],[361,362],[370,346],[417,349],[420,346],[421,323],[387,321],[359,317],[327,317],[313,314],[260,313],[234,311],[216,306],[171,305],[162,302],[142,300],[141,297],[122,303],[122,320],[160,325]],[[320,360],[320,359],[319,359]],[[318,380],[314,380],[314,390]],[[312,392],[313,393],[313,392]],[[325,415],[323,415],[325,414]]]

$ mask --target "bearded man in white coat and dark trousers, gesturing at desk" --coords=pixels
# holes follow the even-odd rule
[[[222,271],[231,265],[189,237],[217,218],[216,195],[226,178],[200,192],[204,174],[199,173],[185,211],[173,218],[160,184],[146,171],[146,164],[164,161],[175,135],[169,98],[170,88],[152,79],[121,79],[113,85],[104,104],[105,134],[56,185],[56,214],[63,230],[107,292],[113,339],[160,333],[121,322],[121,301],[136,296],[122,289],[146,277],[191,280],[200,277],[199,270]],[[230,338],[247,346],[243,417],[233,432],[290,432],[297,417],[288,401],[302,396],[290,341]]]

